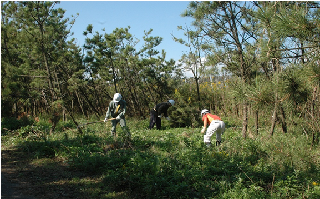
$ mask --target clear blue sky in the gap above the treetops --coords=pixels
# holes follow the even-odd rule
[[[82,33],[89,24],[93,25],[94,32],[99,33],[103,33],[103,28],[106,33],[111,33],[116,28],[130,26],[129,32],[140,40],[137,48],[143,45],[144,31],[152,28],[151,36],[163,38],[157,49],[166,51],[166,60],[178,61],[188,49],[175,42],[172,34],[185,39],[177,26],[191,26],[191,18],[180,16],[188,5],[188,1],[61,1],[55,7],[66,10],[65,17],[70,19],[79,13],[71,31],[80,47],[85,41]]]

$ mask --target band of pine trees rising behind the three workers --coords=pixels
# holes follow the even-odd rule
[[[243,137],[259,126],[272,134],[277,123],[284,133],[319,136],[317,2],[191,2],[181,16],[193,23],[178,27],[188,39],[173,35],[190,52],[169,61],[152,29],[136,49],[130,27],[100,33],[88,24],[79,47],[67,41],[76,17],[65,18],[55,2],[1,4],[2,119],[45,113],[54,131],[67,116],[76,125],[79,114],[102,118],[119,92],[137,118],[176,100],[175,127],[197,126],[207,108],[241,121]]]

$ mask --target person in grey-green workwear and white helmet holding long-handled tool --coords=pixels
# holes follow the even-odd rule
[[[108,111],[106,113],[106,117],[104,122],[108,120],[109,117],[115,118],[111,120],[112,128],[111,135],[116,137],[116,126],[120,122],[121,128],[126,131],[127,136],[130,138],[129,129],[126,126],[126,120],[124,114],[126,113],[126,101],[122,99],[120,93],[116,93],[113,96],[113,100],[109,103]]]

